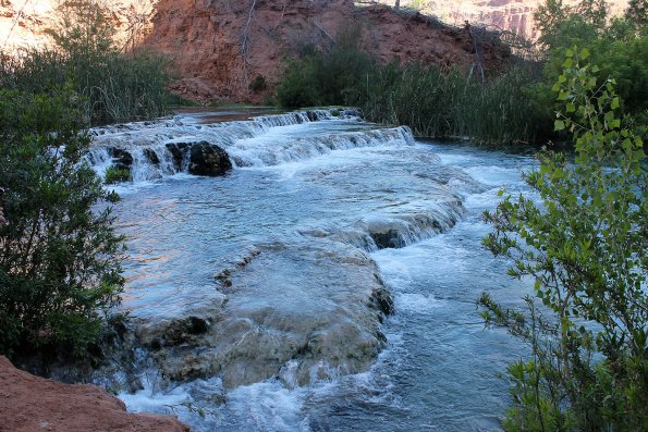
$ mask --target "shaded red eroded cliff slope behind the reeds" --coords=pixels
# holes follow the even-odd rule
[[[326,49],[340,32],[357,29],[380,62],[469,66],[477,61],[469,32],[418,14],[349,0],[160,0],[145,46],[173,59],[173,89],[189,99],[262,102],[286,57],[304,47]],[[482,42],[479,61],[497,67],[509,57],[496,40]],[[255,79],[266,88],[250,89]],[[254,86],[253,86],[254,87]]]

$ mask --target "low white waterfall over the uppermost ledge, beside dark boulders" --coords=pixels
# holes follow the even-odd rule
[[[119,168],[130,173],[131,181],[139,183],[187,173],[189,153],[196,144],[224,150],[234,166],[243,168],[302,161],[333,150],[408,145],[414,140],[407,127],[367,129],[359,120],[355,110],[297,111],[211,124],[200,123],[200,116],[176,115],[94,128],[86,160],[101,176],[110,168]],[[356,129],[340,134],[299,134],[299,125],[314,122],[358,124]]]

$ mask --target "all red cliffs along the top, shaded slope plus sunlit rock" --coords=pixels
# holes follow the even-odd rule
[[[98,0],[99,1],[99,0]],[[419,61],[467,67],[478,61],[498,67],[506,49],[481,40],[477,59],[464,23],[538,36],[533,13],[543,0],[392,0],[378,4],[351,0],[111,0],[120,45],[169,54],[178,81],[173,90],[198,101],[262,102],[272,94],[286,57],[306,45],[328,47],[340,32],[357,29],[381,62]],[[575,2],[577,0],[570,0]],[[567,2],[570,2],[567,1]],[[357,5],[357,4],[359,5]],[[3,50],[50,42],[53,0],[0,0]],[[621,13],[627,0],[610,1]],[[455,25],[451,28],[415,13],[423,11]],[[409,9],[407,9],[409,8]],[[255,79],[266,85],[253,86]]]

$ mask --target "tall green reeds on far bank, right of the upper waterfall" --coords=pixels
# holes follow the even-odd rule
[[[417,136],[534,141],[548,122],[526,90],[535,79],[533,71],[519,66],[482,84],[459,70],[391,64],[367,75],[350,102],[359,104],[368,120],[408,125]]]

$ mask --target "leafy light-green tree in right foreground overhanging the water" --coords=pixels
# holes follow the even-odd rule
[[[535,280],[526,313],[485,293],[488,325],[526,341],[531,358],[509,368],[506,430],[648,430],[648,175],[643,141],[622,127],[614,79],[597,79],[589,52],[567,50],[553,89],[557,131],[576,157],[540,155],[525,174],[539,194],[506,197],[484,239],[514,277]],[[541,305],[537,304],[541,301]]]

